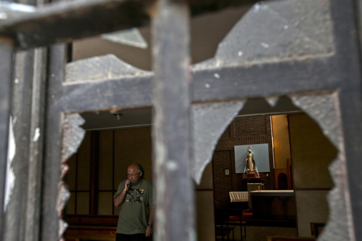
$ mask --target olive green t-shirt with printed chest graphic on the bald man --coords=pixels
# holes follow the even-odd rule
[[[115,198],[125,188],[126,180],[119,186]],[[145,233],[150,215],[150,206],[153,206],[153,187],[147,179],[131,185],[119,212],[117,233],[135,234]]]

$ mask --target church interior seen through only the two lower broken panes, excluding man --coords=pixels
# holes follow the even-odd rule
[[[253,101],[268,106],[263,100],[252,100],[245,104],[244,112]],[[86,119],[108,115],[110,122],[126,125],[88,130],[77,153],[68,160],[71,198],[66,207],[65,220],[70,225],[66,237],[111,240],[121,208],[114,207],[113,195],[125,179],[127,166],[139,162],[145,178],[152,180],[151,125],[129,125],[129,118],[139,117],[132,111],[148,113],[148,121],[151,118],[150,109],[121,111],[120,120],[108,111],[83,115]],[[333,187],[328,165],[336,150],[310,116],[300,110],[292,113],[245,115],[242,110],[226,128],[201,183],[195,185],[198,240],[241,240],[241,235],[243,240],[266,240],[267,236],[315,238],[321,232],[328,221],[326,197]],[[86,122],[87,126],[94,124]],[[260,172],[258,177],[236,173],[235,146],[253,148],[258,144],[268,145],[269,172]],[[258,166],[260,160],[254,157]],[[274,196],[254,196],[252,209],[250,196],[232,202],[230,193],[248,194],[253,184],[261,186],[261,193],[273,190]],[[257,190],[254,188],[254,192]],[[281,192],[286,190],[292,194],[283,199]],[[243,225],[238,226],[240,214],[231,213],[228,228],[232,230],[220,236],[220,210],[243,210]]]

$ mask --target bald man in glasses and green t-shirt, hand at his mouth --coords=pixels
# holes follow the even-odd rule
[[[123,180],[113,196],[114,206],[119,212],[116,241],[140,241],[149,238],[153,232],[153,187],[143,178],[140,164],[133,163],[127,168],[127,179]]]

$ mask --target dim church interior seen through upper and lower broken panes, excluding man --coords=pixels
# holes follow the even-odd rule
[[[193,17],[192,63],[212,58],[218,44],[251,6]],[[71,45],[69,64],[113,54],[150,71],[150,28],[137,31],[146,47],[104,36],[81,39]],[[140,163],[145,178],[152,180],[152,109],[81,114],[87,132],[68,160],[66,180],[71,196],[64,213],[69,224],[65,237],[69,241],[114,240],[121,207],[114,207],[113,195],[126,177],[127,166]],[[215,118],[218,115],[215,111]],[[260,155],[253,153],[258,171],[248,173],[247,156],[237,159],[235,147],[254,150],[262,144],[266,155],[258,159]],[[198,240],[266,241],[273,236],[315,240],[328,221],[327,195],[333,188],[328,166],[336,155],[313,116],[289,97],[280,97],[275,103],[249,98],[217,140],[201,182],[195,183]],[[259,167],[261,162],[265,170]]]

